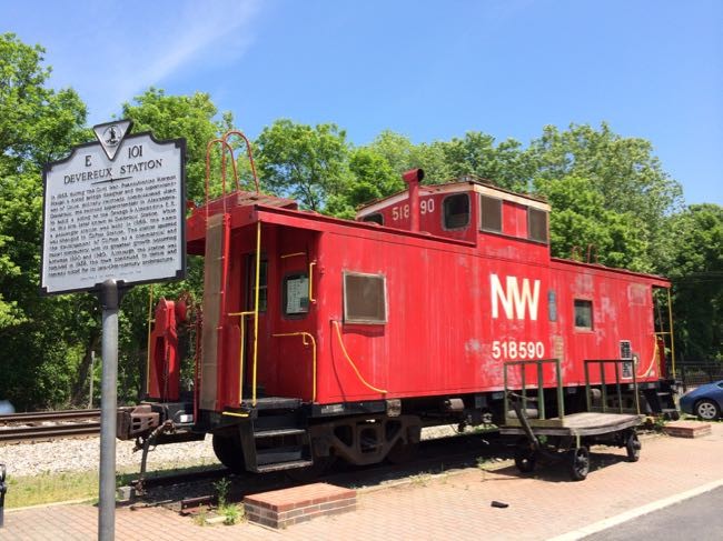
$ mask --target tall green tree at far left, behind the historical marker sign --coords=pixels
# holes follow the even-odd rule
[[[86,297],[38,295],[42,166],[89,133],[78,94],[47,86],[43,53],[0,36],[0,395],[21,409],[68,399],[95,325]]]

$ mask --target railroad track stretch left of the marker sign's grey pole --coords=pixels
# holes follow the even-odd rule
[[[66,410],[0,415],[0,443],[50,441],[100,432],[100,410]]]

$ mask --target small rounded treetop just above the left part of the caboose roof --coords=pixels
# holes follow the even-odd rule
[[[349,146],[346,132],[336,124],[310,127],[277,120],[264,128],[256,146],[261,181],[277,196],[323,211],[329,197],[347,190]]]

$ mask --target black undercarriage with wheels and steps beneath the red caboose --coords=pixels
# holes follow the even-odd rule
[[[596,411],[606,408],[610,412],[628,412],[623,417],[625,420],[628,417],[635,418],[633,424],[637,424],[641,419],[641,415],[630,413],[636,411],[636,404],[640,407],[637,411],[642,413],[676,415],[670,391],[661,390],[666,389],[666,383],[643,383],[637,393],[627,385],[624,389],[618,389],[615,384],[605,388],[594,385],[588,390],[590,400]],[[527,389],[527,392],[531,397],[537,394],[536,389]],[[558,418],[561,411],[557,390],[544,389],[541,395],[545,404],[544,417]],[[564,412],[570,422],[573,422],[575,414],[584,415],[581,412],[587,411],[585,387],[562,388],[562,395]],[[524,414],[533,420],[539,419],[541,409],[537,403],[527,404]],[[147,402],[135,409],[119,411],[118,435],[121,439],[136,438],[139,449],[147,452],[157,444],[201,440],[210,433],[217,458],[235,473],[288,470],[291,477],[303,480],[323,473],[337,460],[357,465],[384,460],[392,463],[408,461],[416,453],[425,427],[507,427],[503,433],[524,435],[523,429],[514,425],[509,428],[509,421],[514,424],[517,417],[515,411],[511,409],[505,419],[504,409],[504,391],[325,405],[268,397],[259,398],[256,407],[248,408],[242,417],[240,413],[201,411],[198,422],[190,422],[194,411],[191,402]],[[626,424],[624,429],[632,427]],[[555,429],[547,431],[549,430]],[[555,432],[548,434],[548,443],[554,443],[557,441],[555,438],[558,438],[559,449],[586,448],[593,440],[630,447],[628,439],[634,437],[634,431],[630,430],[623,434],[623,439],[621,431],[611,429],[610,432],[610,438],[598,433],[594,437],[584,433],[583,443],[580,439],[571,439],[566,431],[565,434]],[[526,442],[519,447],[529,450]],[[528,454],[533,457],[542,452],[544,451],[536,450]],[[525,471],[525,461],[532,460],[529,457],[521,459],[522,471]],[[145,464],[143,457],[142,470]]]

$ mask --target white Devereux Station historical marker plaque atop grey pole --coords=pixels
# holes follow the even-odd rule
[[[185,140],[129,129],[97,126],[99,142],[46,168],[43,293],[185,277]]]

